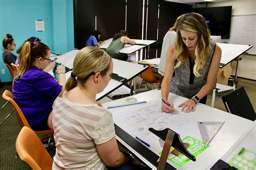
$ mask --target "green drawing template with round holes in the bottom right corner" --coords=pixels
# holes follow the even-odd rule
[[[242,147],[228,164],[238,169],[256,169],[256,153]]]

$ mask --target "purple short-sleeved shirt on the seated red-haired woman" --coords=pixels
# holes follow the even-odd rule
[[[14,80],[12,93],[29,125],[35,128],[48,118],[61,90],[62,86],[49,73],[32,66]]]

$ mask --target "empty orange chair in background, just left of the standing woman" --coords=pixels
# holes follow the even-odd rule
[[[150,63],[144,63],[144,62],[138,62],[140,65],[144,65],[144,66],[149,66],[149,68],[147,70],[145,70],[144,72],[142,72],[140,74],[140,77],[142,77],[142,82],[139,84],[139,88],[140,86],[142,86],[142,83],[146,84],[147,89],[149,90],[149,87],[147,86],[147,83],[150,83],[152,85],[152,89],[153,89],[153,85],[158,83],[158,88],[159,88],[159,79],[154,75],[154,70],[151,67]],[[139,88],[137,90],[137,93],[139,92]]]

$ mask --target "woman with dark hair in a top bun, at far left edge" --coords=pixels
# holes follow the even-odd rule
[[[14,55],[11,51],[14,51],[16,48],[16,44],[11,34],[6,34],[6,37],[3,39],[3,61],[8,63],[11,66],[11,63],[15,63],[17,56]]]

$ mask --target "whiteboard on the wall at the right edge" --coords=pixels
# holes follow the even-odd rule
[[[256,54],[256,14],[231,17],[230,44],[253,45],[247,51]]]

